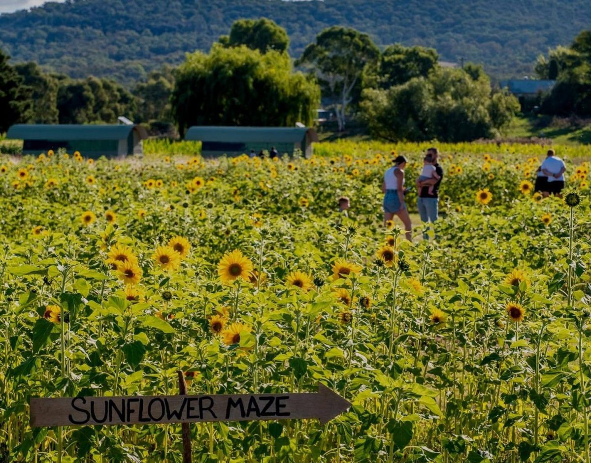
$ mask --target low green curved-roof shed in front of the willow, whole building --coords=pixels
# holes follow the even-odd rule
[[[258,153],[275,146],[280,154],[292,155],[299,149],[309,158],[312,143],[318,141],[318,136],[307,127],[193,126],[185,139],[202,142],[203,156],[239,156],[251,149]]]

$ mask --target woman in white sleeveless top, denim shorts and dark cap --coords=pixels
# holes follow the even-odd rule
[[[407,240],[413,239],[413,224],[404,201],[404,168],[407,158],[398,156],[394,159],[394,167],[389,168],[384,174],[382,193],[384,193],[384,226],[388,220],[392,220],[396,214],[404,224]]]

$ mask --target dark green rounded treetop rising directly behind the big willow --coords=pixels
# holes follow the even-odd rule
[[[233,22],[230,35],[220,37],[220,43],[226,47],[246,45],[261,53],[270,50],[282,53],[290,46],[290,38],[285,29],[271,19],[238,19]]]

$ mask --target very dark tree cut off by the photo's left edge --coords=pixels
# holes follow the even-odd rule
[[[0,133],[31,114],[30,92],[22,77],[8,64],[10,57],[0,50]]]

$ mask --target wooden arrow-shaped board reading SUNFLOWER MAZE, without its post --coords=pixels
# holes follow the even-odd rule
[[[31,398],[31,426],[149,425],[317,418],[326,423],[351,406],[318,384],[316,393]]]

